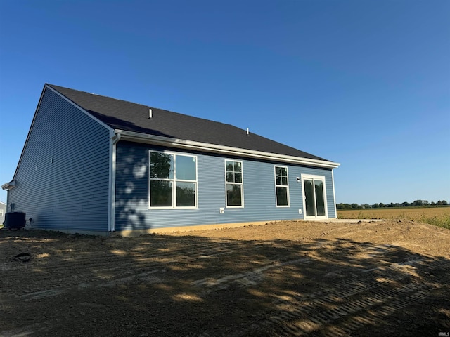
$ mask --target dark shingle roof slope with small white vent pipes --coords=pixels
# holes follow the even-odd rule
[[[328,161],[269,138],[258,136],[255,133],[247,135],[245,130],[230,124],[63,88],[53,84],[47,85],[114,129]],[[152,109],[152,119],[148,118],[149,109]]]

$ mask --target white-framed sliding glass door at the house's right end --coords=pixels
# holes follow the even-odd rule
[[[327,218],[325,177],[302,176],[305,218]]]

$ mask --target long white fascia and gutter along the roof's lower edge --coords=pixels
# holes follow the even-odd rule
[[[282,161],[284,163],[316,166],[326,169],[334,169],[340,166],[339,163],[334,163],[333,161],[294,157],[294,156],[287,156],[285,154],[275,154],[270,152],[241,149],[239,147],[230,147],[224,145],[195,142],[193,140],[183,140],[164,136],[154,136],[134,131],[115,130],[115,133],[120,134],[121,140],[129,140],[137,143],[163,145],[169,147],[177,147],[181,149],[214,152],[219,154],[235,155],[255,159],[265,159],[271,161]]]

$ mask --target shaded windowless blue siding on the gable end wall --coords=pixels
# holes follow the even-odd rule
[[[109,151],[108,128],[46,88],[8,204],[32,227],[108,230]]]

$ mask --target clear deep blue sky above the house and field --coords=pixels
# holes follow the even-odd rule
[[[45,83],[339,162],[338,203],[450,201],[448,0],[0,0],[0,185]]]

